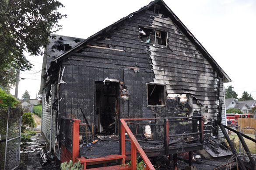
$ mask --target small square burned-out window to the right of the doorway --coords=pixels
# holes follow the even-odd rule
[[[165,106],[165,85],[147,84],[147,105]]]

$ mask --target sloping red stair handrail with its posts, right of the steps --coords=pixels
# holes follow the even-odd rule
[[[139,142],[131,132],[130,128],[126,125],[125,119],[119,119],[121,122],[121,132],[120,132],[120,139],[121,139],[121,154],[125,155],[125,132],[127,132],[128,136],[131,139],[131,169],[137,169],[137,150],[140,153],[140,156],[144,160],[146,164],[146,170],[154,170],[154,167],[150,160],[148,159],[146,153],[141,148]]]

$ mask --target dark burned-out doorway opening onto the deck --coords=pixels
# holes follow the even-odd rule
[[[119,83],[95,82],[95,131],[117,134],[119,116]]]

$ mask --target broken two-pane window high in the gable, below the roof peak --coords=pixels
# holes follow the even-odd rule
[[[153,28],[139,28],[140,42],[167,45],[167,32]]]

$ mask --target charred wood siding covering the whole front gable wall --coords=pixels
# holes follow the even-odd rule
[[[139,25],[166,31],[167,46],[139,42]],[[166,84],[167,94],[189,94],[203,107],[209,133],[217,119],[220,76],[169,17],[141,11],[116,28],[84,46],[62,62],[66,68],[60,86],[60,116],[69,114],[89,122],[95,118],[95,81],[106,77],[124,82],[128,101],[120,99],[120,118],[175,117],[179,103],[167,100],[165,107],[147,107],[146,83]],[[195,105],[196,107],[196,105]],[[196,108],[202,111],[201,107]],[[206,129],[207,130],[207,129]]]

